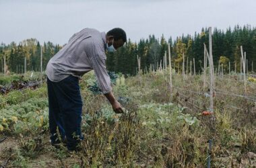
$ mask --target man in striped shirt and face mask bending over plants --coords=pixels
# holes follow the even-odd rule
[[[76,150],[81,134],[82,98],[79,78],[94,70],[98,86],[111,103],[116,113],[122,113],[120,103],[115,99],[106,71],[105,51],[114,52],[127,42],[125,31],[114,28],[105,34],[86,28],[77,32],[69,42],[49,61],[46,67],[49,94],[49,126],[51,144],[57,146],[61,139],[67,139],[67,149]]]

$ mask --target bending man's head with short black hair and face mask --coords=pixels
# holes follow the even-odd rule
[[[114,48],[123,46],[127,42],[125,31],[121,28],[114,28],[106,33],[106,43],[108,46],[113,45]]]

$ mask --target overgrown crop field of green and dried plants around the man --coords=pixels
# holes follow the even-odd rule
[[[70,153],[49,142],[47,89],[40,74],[1,75],[0,167],[206,167],[209,157],[212,167],[256,166],[252,74],[246,90],[240,74],[215,76],[210,114],[203,75],[172,73],[171,88],[168,69],[113,76],[125,113],[115,114],[98,94],[93,73],[84,75],[79,83],[85,139],[81,151]]]

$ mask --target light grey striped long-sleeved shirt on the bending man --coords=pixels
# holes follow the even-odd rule
[[[82,77],[85,73],[94,70],[102,93],[109,93],[112,87],[106,71],[105,46],[106,34],[104,32],[90,28],[77,32],[49,60],[46,67],[47,77],[53,82],[58,82],[69,75]]]

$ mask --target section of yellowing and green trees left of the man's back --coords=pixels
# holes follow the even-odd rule
[[[2,43],[0,47],[0,70],[3,72],[5,56],[7,70],[10,72],[24,73],[25,58],[27,71],[40,71],[41,47],[42,69],[46,69],[47,62],[61,49],[59,44],[55,45],[52,42],[44,42],[41,46],[40,42],[34,38],[24,40],[19,44],[15,42],[7,45]]]

